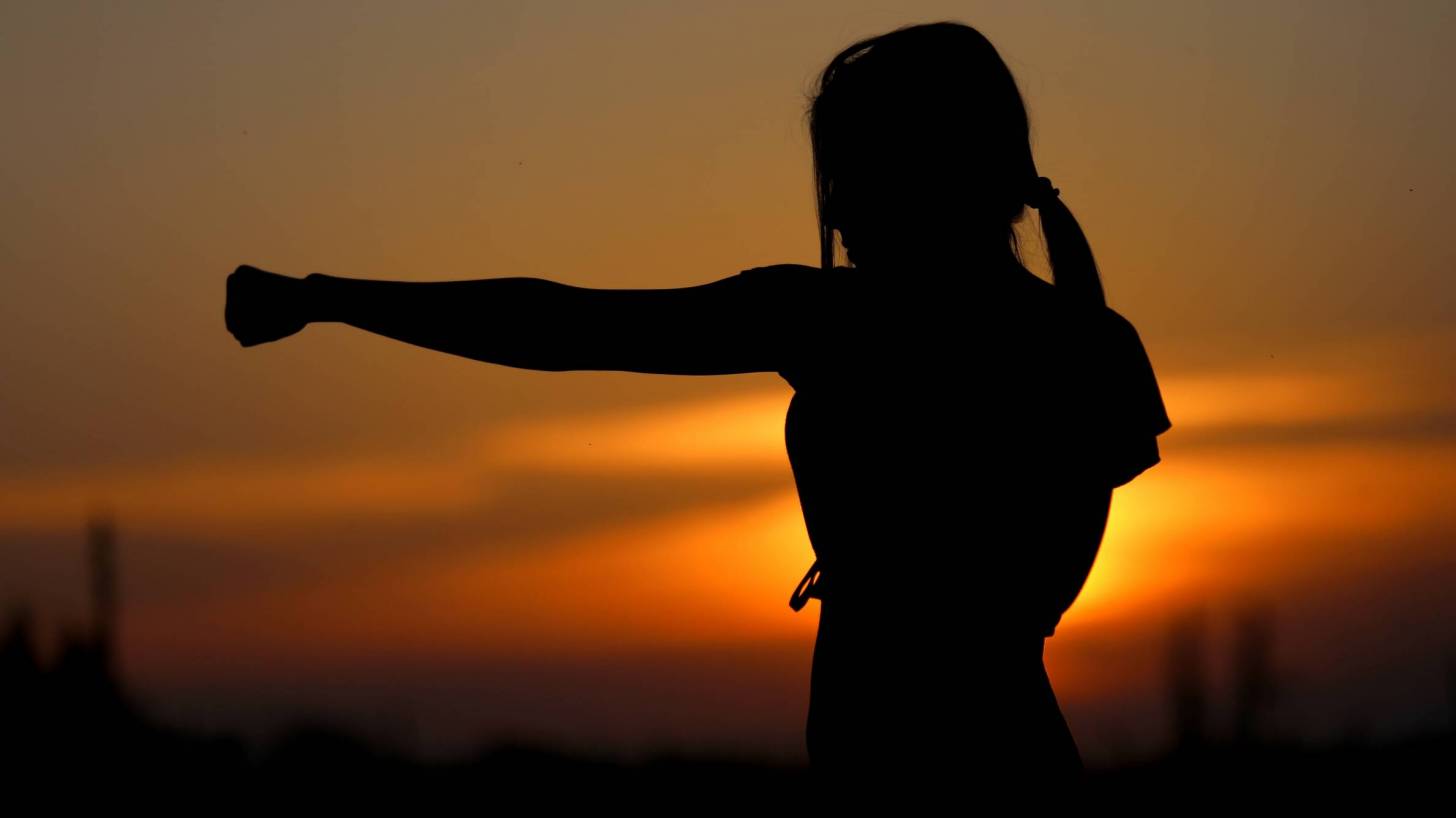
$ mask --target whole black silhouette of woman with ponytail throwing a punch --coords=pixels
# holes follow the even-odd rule
[[[243,346],[342,322],[530,370],[779,373],[817,556],[791,598],[820,600],[815,771],[844,787],[1076,782],[1042,646],[1112,489],[1159,461],[1171,424],[1152,365],[1038,176],[1016,82],[980,32],[941,22],[850,45],[808,119],[820,266],[664,290],[242,266],[227,326]],[[1021,261],[1026,205],[1051,284]]]

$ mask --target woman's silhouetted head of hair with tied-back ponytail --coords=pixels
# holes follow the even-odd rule
[[[840,51],[805,112],[814,150],[820,263],[875,242],[954,234],[1021,259],[1016,223],[1037,191],[1026,106],[981,32],[958,22],[901,26]],[[1041,230],[1053,282],[1105,303],[1076,217],[1045,196]]]

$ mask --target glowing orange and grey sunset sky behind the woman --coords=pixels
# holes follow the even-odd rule
[[[817,263],[805,95],[939,19],[1016,74],[1174,424],[1047,645],[1083,755],[1163,741],[1200,607],[1220,690],[1239,611],[1273,610],[1289,732],[1456,719],[1440,1],[0,4],[0,604],[47,645],[84,622],[111,509],[124,680],[170,723],[802,758],[782,378],[344,325],[243,349],[224,279]]]

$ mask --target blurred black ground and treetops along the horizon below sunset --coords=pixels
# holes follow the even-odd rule
[[[66,632],[50,664],[38,659],[32,611],[13,608],[0,633],[0,761],[9,782],[128,780],[211,792],[214,798],[259,786],[317,795],[338,787],[447,787],[476,793],[482,802],[505,793],[530,796],[536,803],[630,799],[642,805],[662,799],[664,809],[684,803],[706,809],[783,806],[782,799],[808,803],[815,795],[807,766],[741,755],[662,753],[623,761],[607,753],[566,753],[527,741],[482,741],[478,751],[438,763],[307,716],[262,744],[169,728],[147,715],[112,670],[118,600],[111,531],[105,521],[90,525],[95,619]],[[1192,808],[1224,798],[1348,803],[1354,796],[1390,802],[1444,795],[1456,758],[1456,696],[1446,725],[1395,741],[1351,734],[1312,742],[1277,735],[1268,728],[1274,702],[1268,691],[1297,690],[1284,690],[1275,677],[1273,613],[1252,610],[1241,622],[1230,723],[1213,725],[1207,718],[1207,614],[1176,617],[1168,640],[1169,739],[1156,754],[1089,767],[1089,796],[1107,803],[1156,798],[1166,808]],[[1456,654],[1446,668],[1456,694],[1452,659]],[[779,801],[764,802],[767,796]]]

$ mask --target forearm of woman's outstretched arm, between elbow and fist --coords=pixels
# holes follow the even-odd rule
[[[579,368],[568,332],[581,327],[568,285],[545,278],[377,281],[304,278],[310,322],[345,323],[415,346],[529,370]]]

